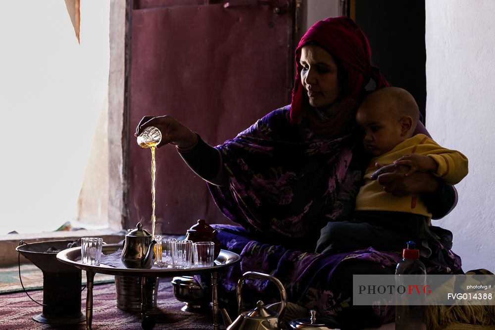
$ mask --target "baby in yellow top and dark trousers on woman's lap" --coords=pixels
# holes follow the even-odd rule
[[[405,176],[430,172],[450,185],[467,175],[468,160],[462,153],[443,148],[424,134],[413,136],[418,119],[416,101],[403,89],[380,89],[363,100],[356,123],[363,131],[365,149],[374,158],[356,197],[353,220],[328,223],[321,230],[316,252],[368,246],[400,250],[408,239],[415,239],[422,243],[422,255],[431,253],[427,240],[440,237],[431,230],[432,214],[421,196],[394,196],[371,180],[376,163],[406,165]]]

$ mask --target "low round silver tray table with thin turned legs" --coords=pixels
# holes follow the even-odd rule
[[[102,247],[102,253],[105,255],[111,254],[122,248],[122,244],[105,244]],[[141,315],[143,317],[142,327],[143,329],[148,328],[146,326],[146,278],[147,277],[173,277],[180,275],[199,275],[210,273],[211,274],[211,286],[212,286],[212,303],[213,303],[213,329],[219,330],[220,326],[218,324],[219,320],[219,310],[218,310],[218,296],[217,296],[217,275],[218,271],[233,266],[241,261],[241,256],[237,253],[220,250],[220,254],[215,260],[215,265],[212,267],[202,267],[202,268],[189,268],[189,269],[165,269],[165,268],[153,268],[153,269],[135,269],[135,268],[116,268],[104,264],[99,264],[99,266],[86,265],[81,261],[81,247],[73,247],[66,249],[57,253],[57,259],[63,263],[75,266],[79,269],[86,271],[86,329],[92,329],[93,322],[93,284],[95,274],[107,274],[107,275],[117,275],[117,276],[135,276],[141,277]],[[153,325],[150,327],[154,327]]]

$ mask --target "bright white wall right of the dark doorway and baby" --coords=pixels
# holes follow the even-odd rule
[[[469,158],[452,231],[464,271],[495,272],[495,1],[426,1],[426,126]]]

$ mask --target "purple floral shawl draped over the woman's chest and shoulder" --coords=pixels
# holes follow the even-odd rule
[[[275,241],[306,240],[310,250],[321,227],[349,213],[362,169],[351,165],[352,136],[318,139],[289,114],[290,106],[272,111],[217,146],[230,185],[209,188],[230,220]]]

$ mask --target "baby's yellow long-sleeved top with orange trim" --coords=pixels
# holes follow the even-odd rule
[[[403,141],[389,152],[373,158],[364,175],[364,185],[356,197],[356,210],[397,211],[422,214],[431,219],[431,213],[421,201],[419,194],[394,196],[383,190],[376,180],[371,180],[371,174],[377,169],[375,163],[389,165],[407,154],[420,154],[432,157],[438,164],[434,175],[447,184],[455,185],[468,173],[468,160],[459,151],[449,150],[424,134],[418,134]]]

